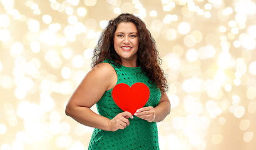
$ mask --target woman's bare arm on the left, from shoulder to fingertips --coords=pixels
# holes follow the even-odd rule
[[[69,99],[66,106],[66,115],[75,119],[78,123],[106,131],[126,128],[130,124],[128,118],[132,118],[130,113],[120,113],[110,120],[90,109],[100,100],[105,91],[115,86],[116,81],[115,69],[110,64],[102,63],[93,68],[86,74]]]

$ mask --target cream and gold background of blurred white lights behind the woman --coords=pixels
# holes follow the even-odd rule
[[[0,0],[0,150],[88,148],[93,128],[64,109],[122,12],[145,21],[168,78],[160,149],[255,149],[254,0]]]

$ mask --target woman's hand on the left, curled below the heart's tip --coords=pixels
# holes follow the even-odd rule
[[[110,126],[110,131],[117,131],[118,129],[125,129],[126,126],[129,126],[130,121],[128,118],[133,119],[133,115],[129,113],[128,111],[125,111],[123,113],[117,114],[115,118],[108,121],[108,124]]]

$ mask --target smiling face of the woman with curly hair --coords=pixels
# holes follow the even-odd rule
[[[132,22],[118,24],[113,40],[115,51],[121,61],[136,61],[139,42],[135,24]]]

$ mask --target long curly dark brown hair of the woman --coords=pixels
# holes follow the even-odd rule
[[[160,68],[161,59],[158,56],[155,39],[153,39],[150,31],[146,28],[145,22],[133,14],[120,14],[118,17],[111,19],[108,22],[108,26],[101,33],[98,44],[94,49],[93,63],[91,66],[95,67],[97,64],[105,61],[105,59],[115,62],[115,66],[121,64],[120,56],[118,56],[115,51],[113,41],[116,27],[121,22],[132,22],[135,24],[139,42],[136,62],[137,66],[140,66],[141,71],[150,78],[149,82],[151,84],[155,83],[161,90],[161,93],[165,93],[168,89],[168,84],[163,70]]]

